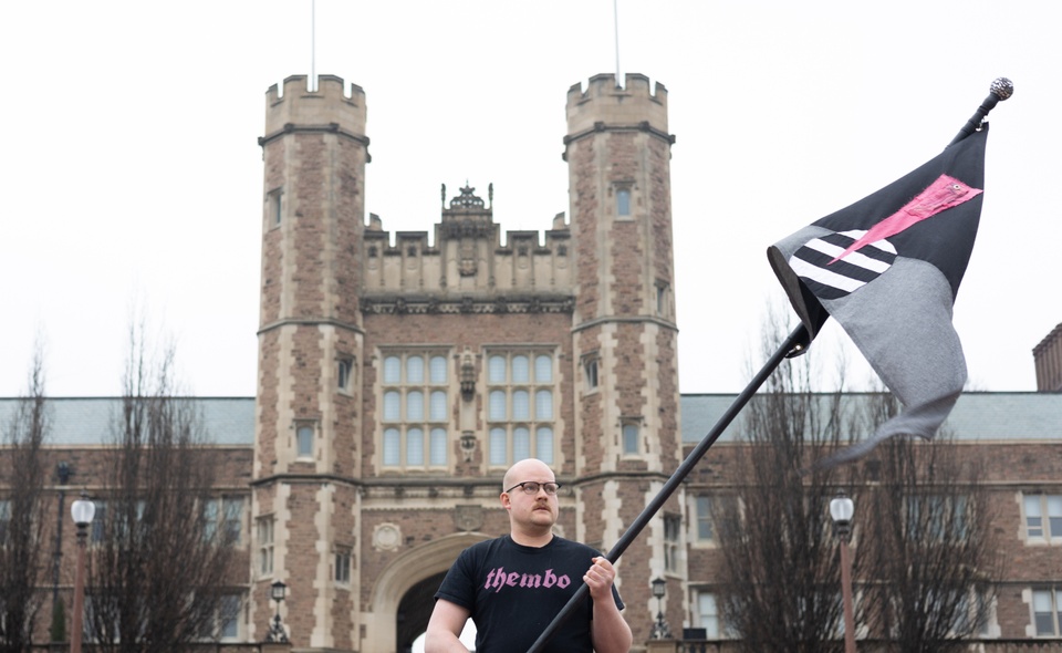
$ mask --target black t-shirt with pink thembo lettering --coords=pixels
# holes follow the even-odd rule
[[[525,653],[572,598],[593,559],[591,547],[553,537],[544,547],[524,547],[509,536],[461,551],[435,593],[466,608],[476,623],[476,653]],[[613,599],[623,601],[615,585]],[[593,651],[593,599],[560,626],[544,653]]]

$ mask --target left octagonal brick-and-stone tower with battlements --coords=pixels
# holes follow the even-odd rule
[[[365,94],[322,75],[267,92],[261,317],[253,469],[252,640],[272,615],[292,643],[352,650],[356,592],[333,581],[357,550],[358,310],[364,231]],[[356,578],[347,582],[357,587]]]

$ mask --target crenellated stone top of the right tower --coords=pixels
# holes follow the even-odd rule
[[[568,136],[565,143],[603,129],[639,129],[653,132],[669,142],[667,133],[667,89],[659,82],[650,89],[649,79],[627,73],[626,84],[618,86],[614,74],[590,79],[586,90],[575,84],[568,91]]]

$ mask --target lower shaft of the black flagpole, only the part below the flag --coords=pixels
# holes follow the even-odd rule
[[[620,559],[620,556],[627,550],[627,547],[631,546],[631,542],[634,541],[638,535],[642,533],[642,530],[649,524],[649,520],[653,519],[653,516],[664,506],[664,504],[675,494],[675,490],[678,488],[679,484],[689,476],[689,473],[694,470],[694,467],[701,458],[705,457],[705,454],[708,453],[708,449],[711,448],[711,445],[716,444],[716,440],[719,439],[719,436],[722,435],[722,432],[726,431],[727,426],[730,426],[730,423],[733,422],[733,418],[737,417],[738,413],[741,412],[741,408],[745,407],[749,400],[752,398],[752,395],[756,394],[756,391],[763,385],[763,382],[767,381],[767,377],[774,372],[782,359],[794,356],[804,352],[808,345],[811,343],[811,340],[808,336],[808,329],[803,324],[793,330],[789,334],[789,338],[778,348],[778,351],[763,364],[763,367],[752,377],[752,381],[741,391],[741,394],[738,395],[733,403],[730,404],[730,407],[727,408],[727,412],[719,417],[719,421],[716,422],[716,425],[712,427],[708,435],[705,436],[700,444],[697,445],[693,452],[686,456],[686,459],[683,460],[683,464],[678,466],[678,469],[675,470],[675,474],[667,479],[667,483],[664,484],[664,487],[660,488],[660,491],[656,495],[653,501],[642,510],[642,514],[638,515],[637,519],[627,528],[627,531],[623,533],[623,537],[620,538],[620,541],[608,551],[608,554],[605,558],[610,562],[615,562]],[[590,589],[586,587],[586,583],[580,585],[575,594],[568,601],[564,608],[558,612],[556,616],[553,618],[553,621],[550,622],[550,625],[545,626],[545,630],[542,631],[542,634],[539,635],[539,639],[534,641],[534,644],[531,645],[531,649],[528,650],[528,653],[539,653],[546,642],[550,641],[550,638],[556,632],[556,629],[560,628],[564,620],[571,615],[572,611],[575,610],[575,607],[580,604],[581,601],[585,600],[586,594],[590,592]]]

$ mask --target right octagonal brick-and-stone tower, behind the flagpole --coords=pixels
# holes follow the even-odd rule
[[[644,75],[596,75],[568,94],[571,229],[575,247],[574,364],[579,539],[607,551],[681,459],[678,424],[667,91]],[[621,558],[633,614],[650,581],[683,597],[684,498],[677,494]],[[644,602],[643,602],[644,601]],[[681,599],[670,601],[681,623]],[[641,620],[639,620],[641,621]],[[635,641],[647,625],[632,623]]]

